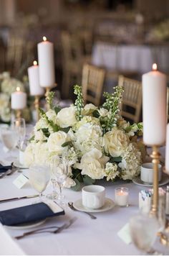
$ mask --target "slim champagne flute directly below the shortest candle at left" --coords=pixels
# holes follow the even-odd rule
[[[22,147],[24,145],[24,138],[26,134],[26,125],[25,125],[25,119],[24,118],[16,118],[13,122],[13,127],[16,130],[17,139],[18,139],[18,147],[19,150],[22,150]]]

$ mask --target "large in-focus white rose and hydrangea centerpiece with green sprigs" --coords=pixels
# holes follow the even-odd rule
[[[144,150],[137,134],[143,125],[131,125],[120,116],[122,92],[117,86],[114,93],[104,93],[102,106],[84,106],[81,87],[76,85],[77,100],[64,109],[52,106],[51,92],[47,98],[50,109],[39,110],[41,119],[26,147],[26,165],[50,164],[59,155],[66,155],[70,167],[67,187],[102,178],[132,180],[139,175]]]

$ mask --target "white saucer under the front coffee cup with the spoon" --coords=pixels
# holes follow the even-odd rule
[[[82,199],[79,199],[74,202],[74,208],[79,211],[88,211],[88,212],[102,212],[102,211],[109,211],[112,207],[115,206],[115,202],[112,201],[110,198],[105,198],[105,205],[102,206],[100,209],[90,209],[82,205]]]

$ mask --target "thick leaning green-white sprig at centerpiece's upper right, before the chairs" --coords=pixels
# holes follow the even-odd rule
[[[115,87],[114,93],[105,92],[105,103],[102,105],[105,109],[109,111],[109,116],[106,120],[105,131],[110,131],[112,127],[116,126],[117,123],[117,114],[120,112],[120,104],[122,100],[122,92],[124,89],[121,86]]]

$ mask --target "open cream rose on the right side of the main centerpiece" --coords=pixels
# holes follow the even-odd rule
[[[113,127],[110,132],[107,132],[103,137],[103,145],[105,152],[109,153],[112,157],[120,157],[129,143],[129,138],[120,129]]]

